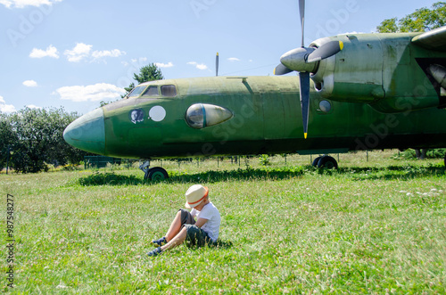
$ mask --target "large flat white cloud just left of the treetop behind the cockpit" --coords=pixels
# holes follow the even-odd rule
[[[54,94],[61,95],[62,100],[72,102],[99,102],[120,98],[126,91],[118,86],[98,83],[90,86],[64,86]]]

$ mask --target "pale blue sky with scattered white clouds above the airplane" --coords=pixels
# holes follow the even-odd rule
[[[436,1],[308,0],[305,40],[370,33]],[[133,73],[268,76],[301,45],[297,0],[0,0],[0,111],[114,101]]]

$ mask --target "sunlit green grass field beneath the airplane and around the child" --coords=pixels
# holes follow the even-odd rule
[[[244,159],[240,168],[230,161],[219,168],[216,160],[199,167],[163,161],[172,177],[161,183],[145,183],[135,169],[0,175],[0,216],[5,220],[6,193],[11,193],[17,241],[14,288],[3,279],[3,289],[25,294],[445,293],[442,160],[391,160],[394,153],[369,153],[369,162],[366,153],[341,155],[337,172],[311,168],[310,157],[302,156],[287,157],[286,166],[283,157],[271,158],[267,168],[251,159],[250,169]],[[105,173],[115,181],[79,182]],[[210,188],[219,208],[219,247],[182,245],[146,257],[153,250],[150,242],[165,234],[195,183]]]

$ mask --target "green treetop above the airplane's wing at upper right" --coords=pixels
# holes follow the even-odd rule
[[[376,27],[379,33],[425,32],[446,25],[446,2],[437,2],[432,9],[420,8],[401,20],[397,18],[384,20]]]

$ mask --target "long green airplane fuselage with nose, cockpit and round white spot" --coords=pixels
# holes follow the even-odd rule
[[[65,140],[87,152],[132,159],[446,147],[443,109],[383,113],[367,103],[326,99],[312,85],[304,139],[297,77],[184,78],[142,86],[158,90],[77,119]],[[161,86],[175,93],[164,96]],[[202,115],[189,112],[191,106]],[[203,126],[191,127],[190,114]]]

